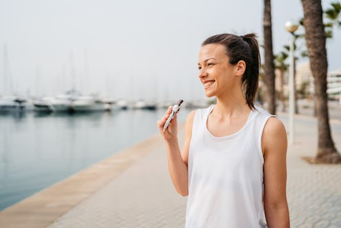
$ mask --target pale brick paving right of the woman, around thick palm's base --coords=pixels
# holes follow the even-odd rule
[[[291,227],[341,227],[341,165],[310,165],[301,159],[314,156],[318,134],[314,118],[297,119],[295,142],[287,156]],[[341,152],[341,123],[331,123],[334,143]]]

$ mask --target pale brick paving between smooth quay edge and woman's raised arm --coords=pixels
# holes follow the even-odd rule
[[[54,227],[184,227],[186,198],[176,193],[159,145],[65,216]]]

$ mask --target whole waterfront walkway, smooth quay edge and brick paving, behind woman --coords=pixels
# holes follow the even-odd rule
[[[279,117],[287,125],[287,117]],[[291,225],[341,227],[341,165],[301,159],[316,153],[316,120],[296,116],[295,123],[287,156]],[[331,121],[331,128],[340,152],[341,121]],[[5,209],[0,227],[177,228],[184,227],[185,212],[186,197],[171,183],[162,138],[153,136]]]

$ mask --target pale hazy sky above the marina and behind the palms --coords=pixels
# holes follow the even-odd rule
[[[285,22],[301,17],[299,0],[272,1],[275,54],[289,40]],[[262,43],[263,1],[0,0],[0,94],[10,85],[33,95],[75,85],[114,99],[201,99],[198,51],[223,32],[256,32]],[[336,28],[329,70],[341,69],[340,50]]]

